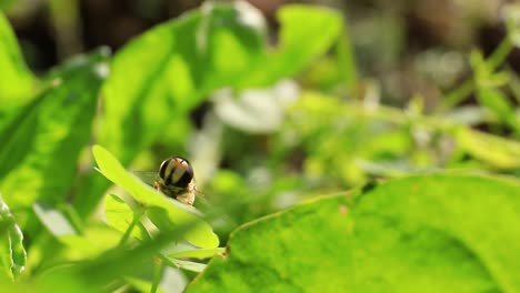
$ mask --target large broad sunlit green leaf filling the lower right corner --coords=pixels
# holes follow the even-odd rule
[[[188,292],[514,292],[520,182],[432,174],[237,230]]]

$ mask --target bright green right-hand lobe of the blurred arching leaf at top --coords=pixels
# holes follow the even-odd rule
[[[281,78],[292,77],[309,67],[342,37],[343,19],[333,10],[302,4],[283,6],[278,10],[277,18],[281,27],[278,48],[244,72],[237,82],[240,88],[266,87]],[[348,43],[342,46],[342,53],[348,54]],[[348,59],[342,55],[340,62],[348,65]],[[344,70],[344,79],[350,82],[352,77],[349,75],[354,73],[349,72],[350,67]]]

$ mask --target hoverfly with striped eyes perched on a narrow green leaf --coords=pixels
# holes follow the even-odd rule
[[[171,156],[162,161],[159,174],[156,172],[151,174],[149,172],[134,173],[164,195],[193,205],[197,186],[193,168],[191,168],[188,160],[180,156]]]

